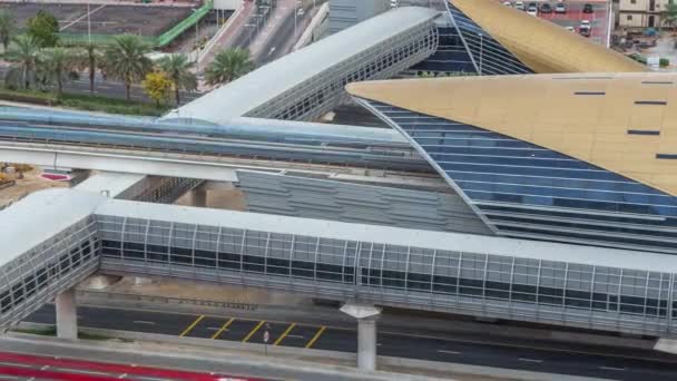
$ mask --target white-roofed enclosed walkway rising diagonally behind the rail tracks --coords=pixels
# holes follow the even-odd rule
[[[434,53],[439,14],[418,7],[385,12],[223,85],[164,119],[312,120],[349,99],[346,84],[390,78]]]

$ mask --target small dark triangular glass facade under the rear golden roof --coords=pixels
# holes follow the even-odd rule
[[[451,26],[439,28],[436,52],[413,70],[480,76],[533,72],[461,10],[451,3],[447,7]]]

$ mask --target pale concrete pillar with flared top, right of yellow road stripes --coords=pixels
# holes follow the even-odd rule
[[[381,309],[373,305],[344,304],[341,311],[357,319],[357,368],[376,370],[376,320]]]

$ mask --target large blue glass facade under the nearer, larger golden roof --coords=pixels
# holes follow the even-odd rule
[[[677,253],[677,198],[560,153],[384,104],[499,235]]]

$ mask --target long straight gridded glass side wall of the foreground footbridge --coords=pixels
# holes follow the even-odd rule
[[[612,331],[669,332],[675,276],[97,215],[101,268]]]

